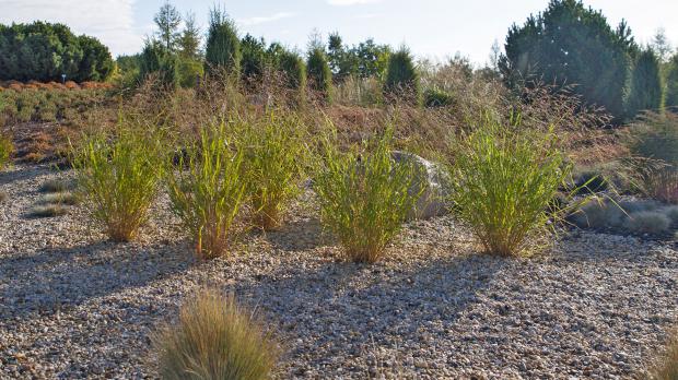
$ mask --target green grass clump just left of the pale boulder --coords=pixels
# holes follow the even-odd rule
[[[423,191],[411,191],[416,169],[410,163],[396,164],[391,140],[388,131],[373,152],[364,154],[341,154],[332,144],[326,146],[314,189],[323,223],[339,238],[347,260],[382,259]]]

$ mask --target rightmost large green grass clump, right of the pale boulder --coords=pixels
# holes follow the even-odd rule
[[[552,229],[549,221],[563,216],[563,210],[549,212],[548,206],[572,170],[554,133],[486,118],[455,149],[452,201],[460,218],[488,253],[533,253],[533,244]]]

